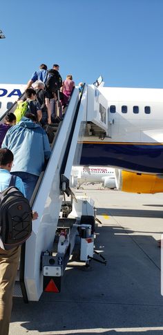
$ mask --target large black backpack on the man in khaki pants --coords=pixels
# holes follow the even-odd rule
[[[8,188],[0,193],[0,238],[6,250],[22,245],[32,232],[32,209],[15,187],[16,178],[12,175]]]

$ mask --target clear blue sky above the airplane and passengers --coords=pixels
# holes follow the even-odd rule
[[[41,63],[63,79],[163,87],[163,0],[6,0],[0,83],[26,84]]]

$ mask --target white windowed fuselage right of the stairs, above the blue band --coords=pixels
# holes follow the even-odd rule
[[[88,86],[88,119],[106,130],[104,141],[163,142],[162,114],[162,88]]]

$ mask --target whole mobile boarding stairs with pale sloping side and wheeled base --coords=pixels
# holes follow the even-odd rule
[[[90,117],[88,89],[92,97]],[[84,133],[90,135],[90,124],[93,126],[95,122],[94,126],[100,129],[100,133],[105,131],[102,115],[98,116],[96,112],[93,115],[95,95],[97,88],[92,86],[88,88],[85,85],[80,97],[78,89],[73,90],[52,143],[50,160],[32,195],[32,209],[39,213],[39,218],[32,223],[32,235],[21,247],[19,278],[15,285],[15,296],[22,295],[25,302],[39,300],[43,291],[60,291],[61,276],[77,238],[81,243],[80,260],[88,264],[93,258],[94,203],[90,198],[76,199],[69,180],[73,164],[79,165],[82,138]],[[10,109],[14,110],[15,106]],[[69,201],[66,201],[65,194]]]

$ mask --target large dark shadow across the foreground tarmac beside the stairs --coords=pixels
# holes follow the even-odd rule
[[[115,211],[97,209],[97,214],[106,210],[110,215]],[[130,210],[124,212],[129,216]],[[106,267],[92,261],[85,271],[83,263],[69,262],[60,294],[42,294],[39,302],[27,305],[14,299],[11,326],[17,322],[19,327],[10,335],[34,331],[43,335],[162,335],[160,249],[152,236],[128,235],[132,232],[119,225],[99,226],[95,249],[108,260]]]

